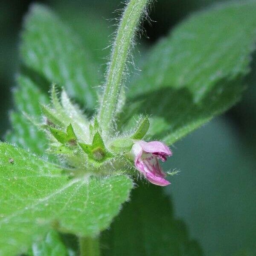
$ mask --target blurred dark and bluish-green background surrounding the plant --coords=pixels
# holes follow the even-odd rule
[[[66,23],[87,38],[88,47],[104,70],[122,7],[119,0],[37,1],[55,9]],[[144,22],[138,48],[144,49],[166,35],[189,13],[207,8],[214,0],[158,0],[151,10],[151,24]],[[23,15],[32,1],[1,1],[0,17],[0,140],[9,128],[12,88],[18,70],[19,36]],[[156,22],[155,22],[156,21]],[[101,33],[97,33],[101,31]],[[107,38],[107,40],[105,39]],[[174,214],[188,227],[190,238],[205,255],[256,255],[256,54],[248,89],[241,102],[172,146],[167,169],[179,169],[164,189],[172,198]]]

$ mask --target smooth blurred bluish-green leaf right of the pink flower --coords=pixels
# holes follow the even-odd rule
[[[214,119],[177,142],[163,166],[180,170],[164,191],[207,256],[256,251],[256,159],[241,137],[232,122]]]

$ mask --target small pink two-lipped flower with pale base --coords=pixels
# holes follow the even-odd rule
[[[159,186],[169,185],[170,182],[164,177],[166,174],[161,169],[158,159],[166,161],[167,156],[172,155],[172,151],[160,141],[145,142],[137,140],[132,153],[135,156],[134,165],[151,183]]]

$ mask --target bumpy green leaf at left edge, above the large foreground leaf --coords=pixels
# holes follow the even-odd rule
[[[33,153],[44,155],[48,148],[48,139],[44,131],[29,121],[41,122],[39,103],[47,104],[47,96],[38,89],[36,84],[25,76],[18,76],[18,87],[14,90],[16,111],[10,115],[12,131],[6,135],[9,143],[28,148]]]

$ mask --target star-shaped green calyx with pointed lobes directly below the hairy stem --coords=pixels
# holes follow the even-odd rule
[[[79,143],[82,150],[88,155],[90,160],[96,161],[97,163],[103,163],[109,158],[113,157],[113,154],[109,152],[104,145],[102,137],[97,131],[93,137],[92,145]]]

